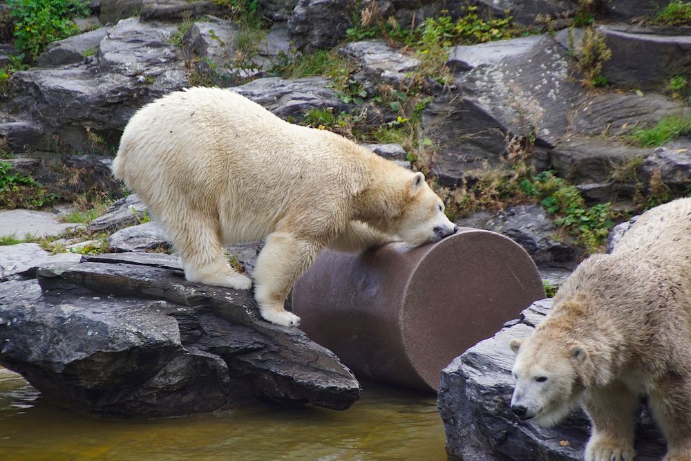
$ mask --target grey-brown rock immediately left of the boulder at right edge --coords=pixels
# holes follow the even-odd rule
[[[650,156],[651,149],[632,147],[609,138],[567,136],[549,153],[561,178],[575,184],[612,182],[612,174],[627,162]]]

